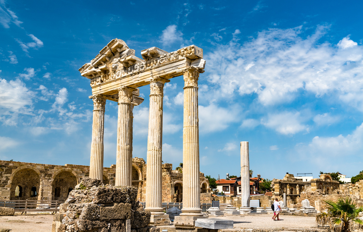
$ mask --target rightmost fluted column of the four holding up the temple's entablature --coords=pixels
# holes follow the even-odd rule
[[[184,72],[183,209],[180,216],[203,216],[199,192],[198,77],[199,72],[193,68]]]

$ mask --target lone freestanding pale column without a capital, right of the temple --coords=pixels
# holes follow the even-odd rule
[[[248,142],[241,142],[241,190],[242,207],[250,207],[250,186],[249,186],[249,151]]]

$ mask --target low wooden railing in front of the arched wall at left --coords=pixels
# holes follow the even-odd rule
[[[15,212],[52,212],[59,211],[58,207],[61,203],[58,200],[7,200],[0,201],[0,207],[13,208]]]

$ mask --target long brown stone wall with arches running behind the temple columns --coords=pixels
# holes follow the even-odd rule
[[[132,159],[132,186],[138,188],[137,200],[146,200],[146,163]],[[115,185],[116,167],[103,168],[103,183]],[[74,187],[89,176],[89,166],[51,165],[0,160],[0,200],[64,201]],[[208,179],[200,172],[200,192],[209,191]],[[162,201],[182,202],[183,174],[162,165]]]

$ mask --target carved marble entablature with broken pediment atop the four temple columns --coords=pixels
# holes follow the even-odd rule
[[[121,86],[137,88],[150,83],[150,78],[160,76],[165,80],[182,75],[193,68],[204,72],[203,49],[195,45],[166,52],[152,47],[141,51],[143,59],[135,56],[123,40],[114,39],[79,72],[90,79],[92,94],[110,96],[118,94]],[[197,83],[197,82],[196,82]]]

